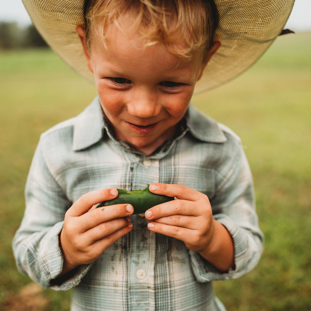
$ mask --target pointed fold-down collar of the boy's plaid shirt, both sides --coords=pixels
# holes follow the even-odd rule
[[[190,133],[197,139],[215,143],[222,143],[227,140],[218,123],[200,112],[191,103],[185,119]],[[100,100],[96,96],[91,104],[75,118],[73,151],[86,149],[99,142],[104,136],[104,130],[110,138],[115,140],[104,122]]]

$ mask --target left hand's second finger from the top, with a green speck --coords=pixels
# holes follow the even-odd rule
[[[92,209],[81,215],[80,231],[84,232],[106,221],[129,216],[133,211],[134,209],[130,204],[116,204]]]

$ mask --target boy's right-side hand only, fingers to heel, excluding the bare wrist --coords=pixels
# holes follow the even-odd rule
[[[156,186],[158,189],[154,190]],[[153,193],[176,197],[178,200],[156,205],[146,211],[146,219],[152,221],[148,228],[183,241],[188,249],[195,252],[205,250],[214,231],[208,197],[176,184],[153,183],[149,189]]]

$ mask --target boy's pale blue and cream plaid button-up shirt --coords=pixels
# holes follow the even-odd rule
[[[133,229],[95,262],[62,282],[59,233],[67,209],[100,188],[142,189],[177,183],[205,193],[213,216],[230,232],[235,267],[217,271],[183,242]],[[13,240],[18,269],[43,287],[72,290],[72,310],[225,310],[213,280],[237,278],[257,264],[263,236],[254,208],[252,177],[239,137],[191,104],[180,131],[151,156],[117,141],[98,98],[77,117],[41,135],[26,184],[26,211]]]

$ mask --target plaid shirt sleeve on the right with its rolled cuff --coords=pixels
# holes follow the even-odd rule
[[[255,211],[253,179],[241,143],[236,138],[225,147],[221,165],[215,170],[215,195],[210,198],[213,217],[231,234],[234,268],[220,272],[199,253],[190,252],[193,272],[199,282],[239,278],[258,263],[263,234]]]

